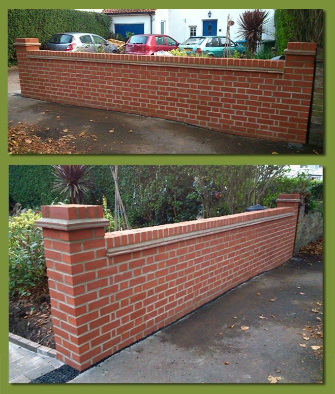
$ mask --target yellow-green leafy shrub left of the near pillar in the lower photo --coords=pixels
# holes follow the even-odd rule
[[[29,209],[9,218],[9,293],[28,294],[46,280],[42,230],[35,225],[41,214]]]

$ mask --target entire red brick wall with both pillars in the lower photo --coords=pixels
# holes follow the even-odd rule
[[[100,206],[42,207],[58,359],[88,368],[289,260],[299,196],[279,205],[106,234]]]

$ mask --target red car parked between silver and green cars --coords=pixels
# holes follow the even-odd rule
[[[178,48],[179,43],[163,34],[137,34],[126,43],[125,53],[135,55],[153,55],[158,51],[170,51]]]

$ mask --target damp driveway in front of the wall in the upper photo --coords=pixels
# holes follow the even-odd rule
[[[295,146],[234,136],[164,119],[50,103],[20,96],[17,69],[8,73],[9,125],[48,141],[74,136],[74,153],[91,154],[313,154],[319,147]]]

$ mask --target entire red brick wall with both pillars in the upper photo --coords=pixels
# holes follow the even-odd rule
[[[316,44],[289,43],[284,62],[39,51],[37,44],[15,43],[23,97],[306,142]]]

